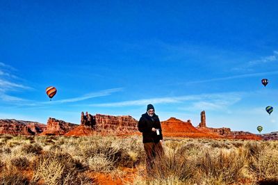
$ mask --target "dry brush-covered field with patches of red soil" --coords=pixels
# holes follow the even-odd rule
[[[0,136],[0,184],[278,183],[278,141],[165,138],[145,172],[142,137]]]

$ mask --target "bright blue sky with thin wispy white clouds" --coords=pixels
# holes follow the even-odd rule
[[[0,1],[0,118],[278,131],[277,1]],[[268,86],[261,79],[269,80]],[[50,102],[45,88],[55,86]],[[273,106],[271,115],[266,106]]]

